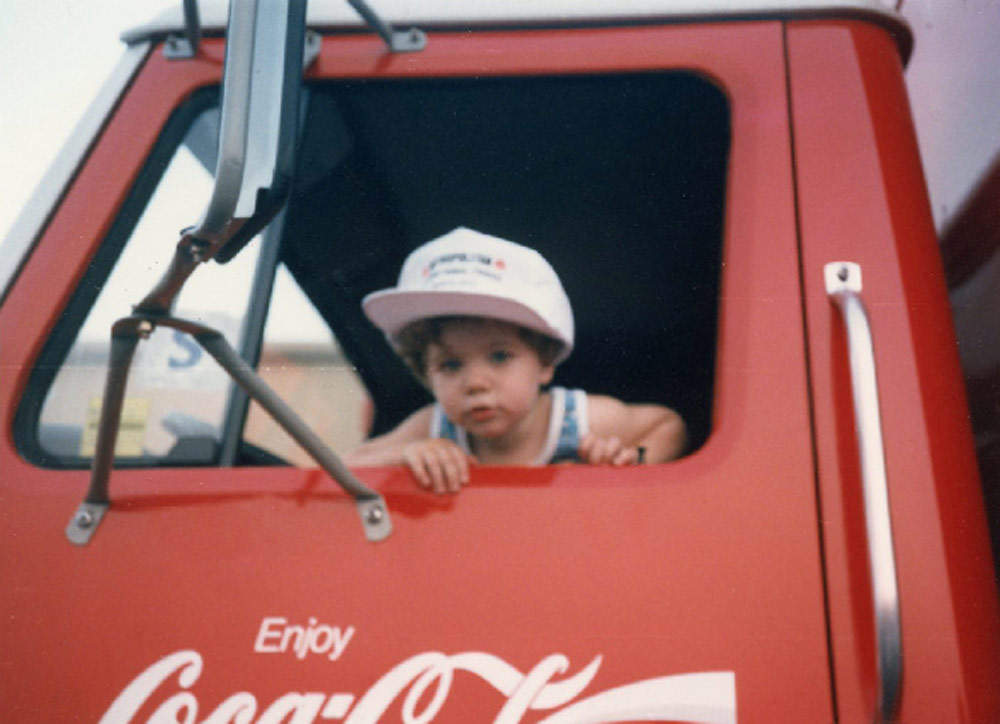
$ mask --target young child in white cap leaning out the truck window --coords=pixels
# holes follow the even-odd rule
[[[458,228],[413,251],[398,285],[362,305],[436,402],[349,465],[406,464],[445,493],[469,482],[470,464],[631,465],[684,448],[684,423],[666,407],[546,389],[573,349],[573,311],[533,249]]]

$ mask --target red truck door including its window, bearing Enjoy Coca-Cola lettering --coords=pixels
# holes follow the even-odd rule
[[[331,34],[292,202],[179,303],[251,362],[263,335],[261,372],[349,446],[426,400],[360,296],[439,227],[494,231],[563,276],[581,341],[557,380],[677,407],[686,457],[478,468],[447,498],[358,470],[394,526],[370,543],[158,329],[111,510],[67,542],[100,389],[81,330],[128,313],[203,205],[221,64],[219,40],[151,53],[0,309],[4,718],[834,720],[778,22],[442,30],[406,55]],[[247,321],[275,273],[307,311]]]

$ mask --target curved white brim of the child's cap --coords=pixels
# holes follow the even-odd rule
[[[456,291],[399,291],[385,289],[366,296],[361,306],[386,335],[394,337],[406,325],[431,317],[486,317],[510,322],[563,343],[557,362],[569,356],[572,345],[561,338],[530,307],[516,299],[493,294]]]

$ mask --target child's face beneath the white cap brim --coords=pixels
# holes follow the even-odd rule
[[[516,433],[552,381],[554,366],[521,339],[517,327],[492,320],[449,322],[427,348],[427,380],[448,418],[475,437]]]

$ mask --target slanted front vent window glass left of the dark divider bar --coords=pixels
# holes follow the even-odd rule
[[[61,464],[87,465],[94,454],[111,325],[162,276],[178,225],[197,219],[211,192],[207,152],[218,112],[196,119],[170,159],[114,267],[59,367],[42,405],[38,443]],[[232,343],[243,332],[257,245],[230,264],[207,264],[177,299],[176,313],[212,326]],[[218,454],[233,385],[187,335],[157,328],[139,345],[129,375],[116,462],[206,464]]]

